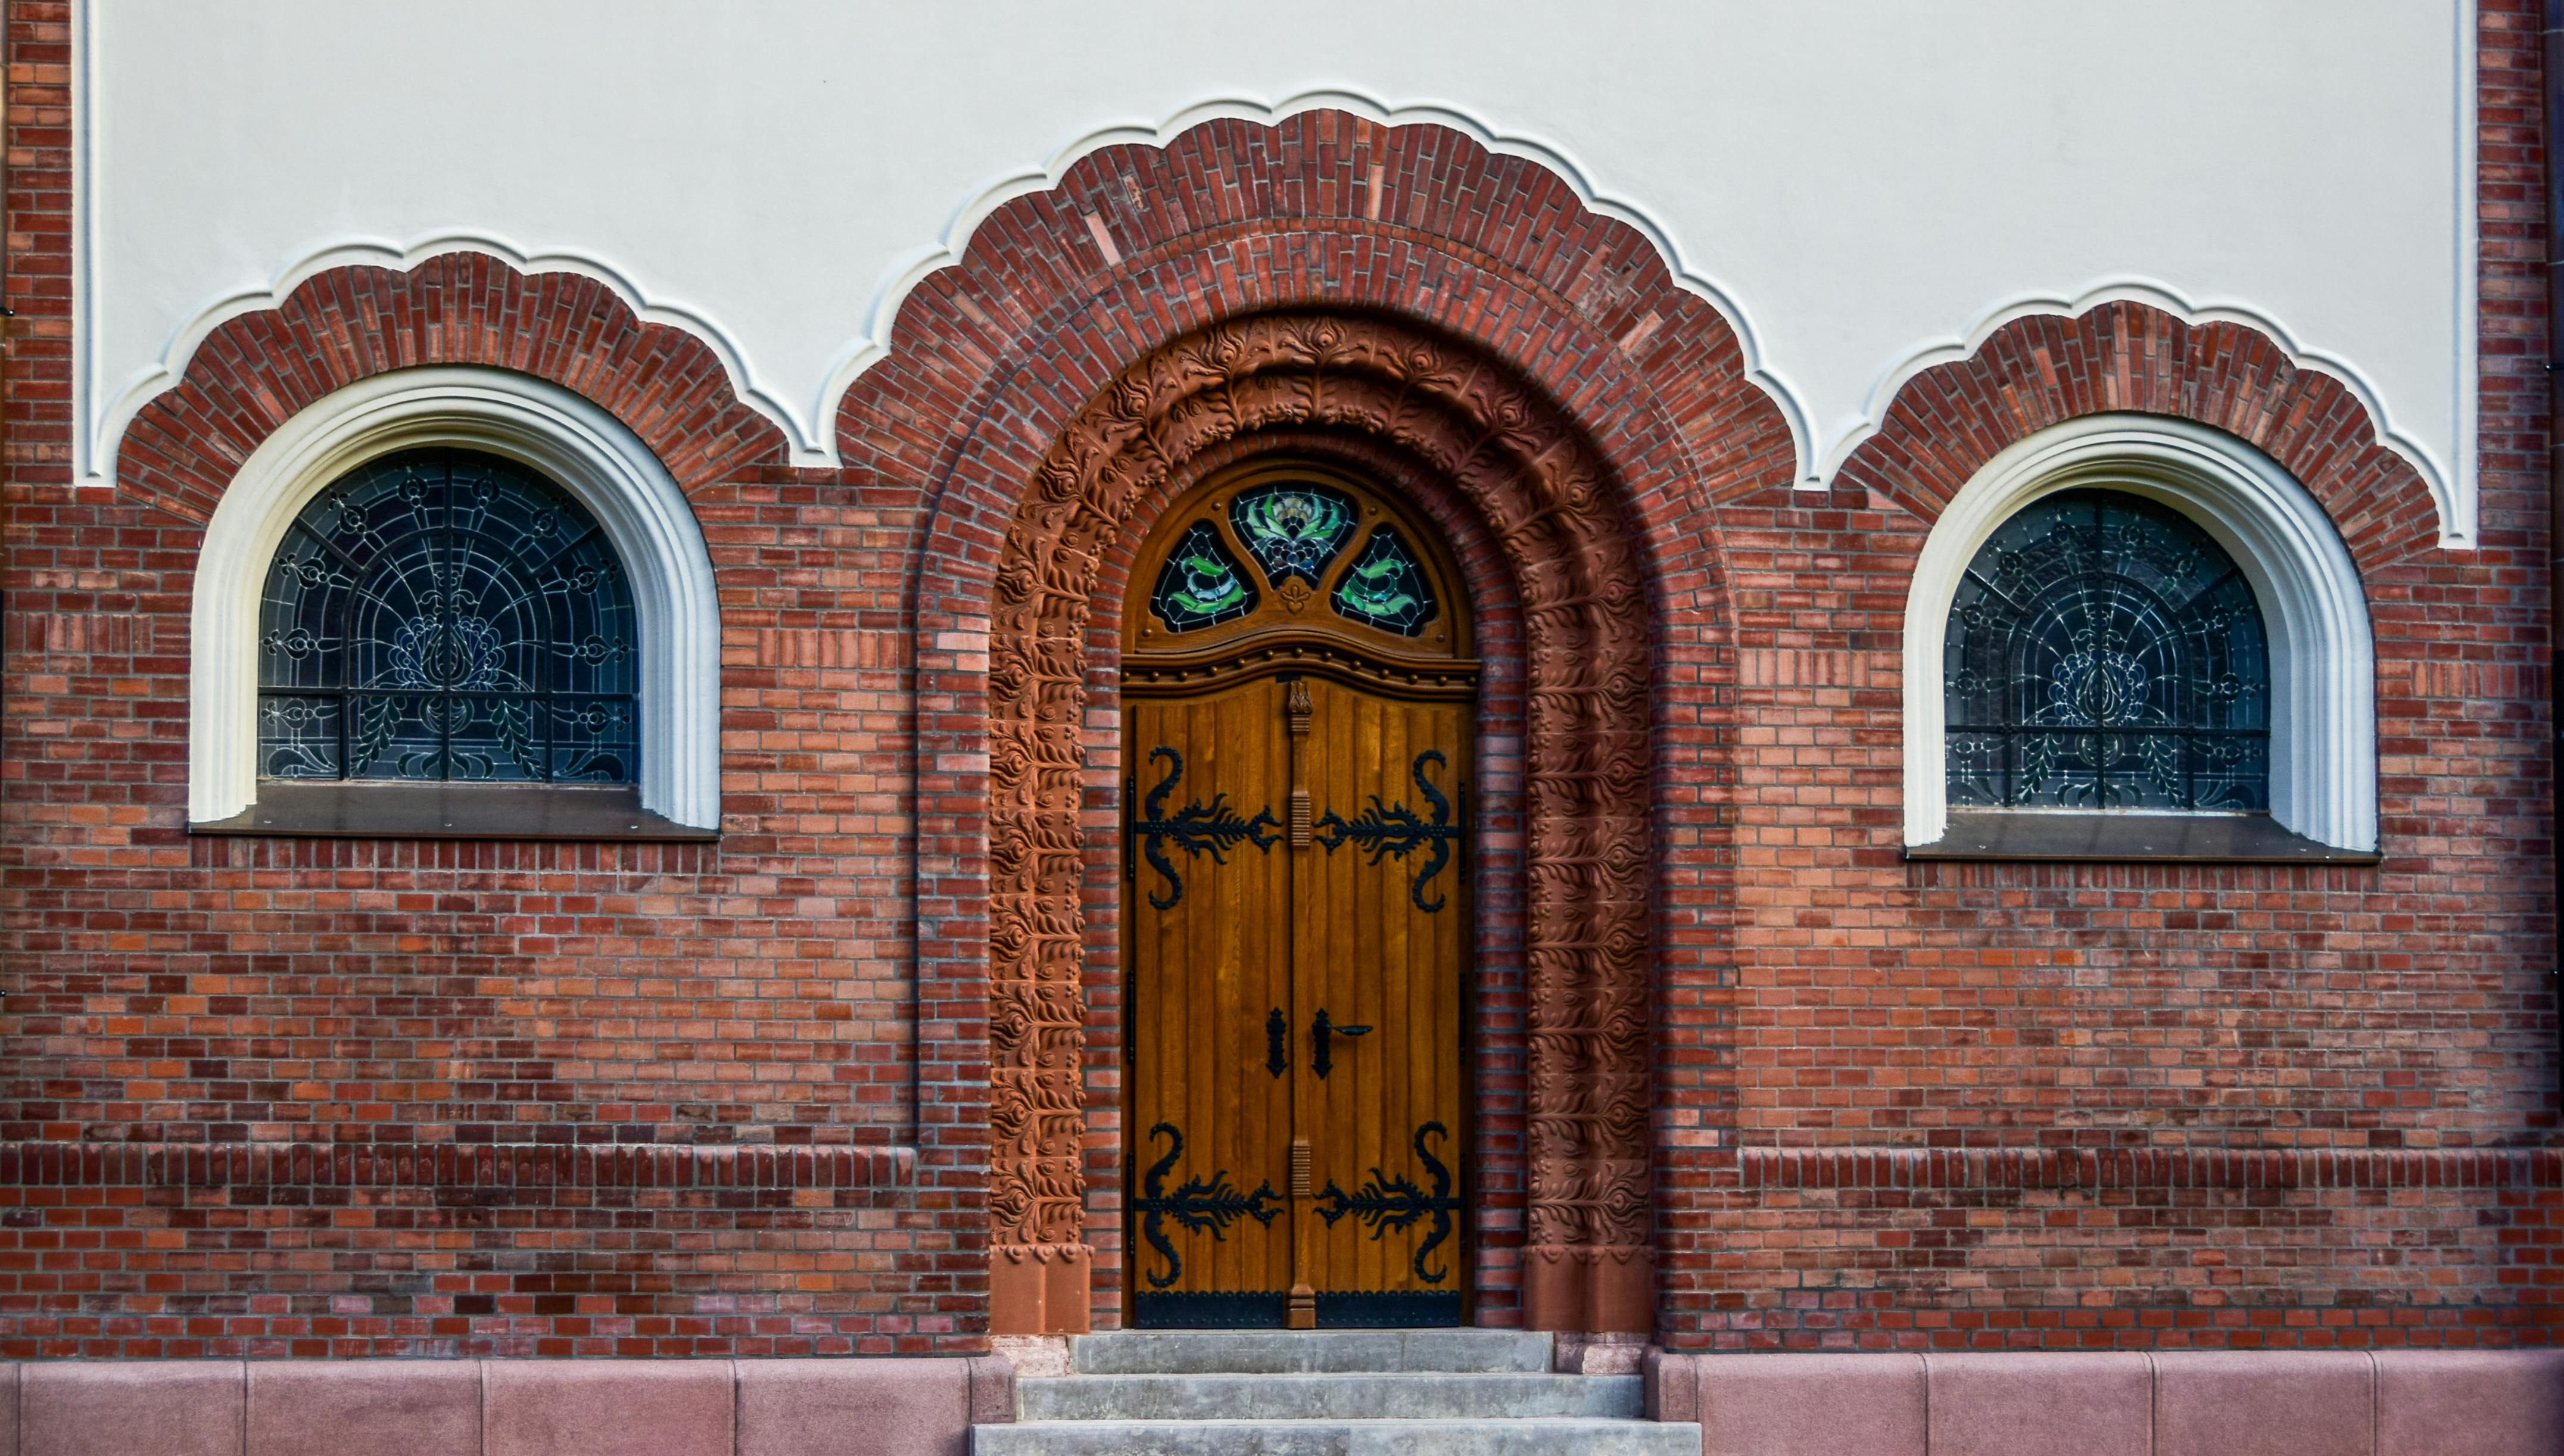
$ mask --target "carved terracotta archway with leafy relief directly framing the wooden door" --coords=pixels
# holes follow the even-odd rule
[[[1082,790],[1105,564],[1167,482],[1259,431],[1397,449],[1503,551],[1526,636],[1531,1328],[1654,1325],[1649,1169],[1649,605],[1618,484],[1544,397],[1377,315],[1272,313],[1185,336],[1044,454],[990,633],[990,1330],[1085,1328]],[[1100,615],[1097,615],[1100,613]]]

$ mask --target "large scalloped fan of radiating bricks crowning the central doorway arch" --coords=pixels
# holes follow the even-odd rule
[[[1536,161],[1338,110],[1110,146],[997,208],[905,297],[890,354],[838,400],[841,459],[949,482],[990,420],[1054,438],[1172,338],[1292,308],[1377,308],[1469,338],[1602,441],[1633,495],[1661,495],[1651,515],[1795,467],[1728,320],[1644,233]],[[1656,446],[1620,431],[1661,433],[1679,467],[1633,469]]]

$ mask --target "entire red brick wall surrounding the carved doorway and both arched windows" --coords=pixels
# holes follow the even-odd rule
[[[1533,164],[1336,113],[1108,149],[1003,208],[849,392],[836,472],[785,467],[685,333],[451,256],[338,269],[221,328],[126,436],[115,490],[72,490],[64,15],[8,0],[8,23],[0,1356],[972,1348],[992,546],[1120,367],[1310,302],[1423,320],[1544,387],[1644,533],[1669,1343],[2556,1330],[2523,5],[2485,5],[2474,554],[2431,543],[2420,482],[2336,385],[2141,308],[2000,331],[1913,379],[1831,492],[1792,492],[1777,410],[1644,238]],[[410,361],[579,390],[687,490],[723,597],[718,848],[185,836],[200,525],[295,405]],[[2377,605],[2385,866],[1900,859],[1913,554],[1977,461],[2095,408],[2231,428],[2343,523]],[[1505,625],[1492,556],[1451,528]],[[1500,720],[1518,682],[1492,677]],[[1100,831],[1115,751],[1100,731]],[[1520,1218],[1510,864],[1482,856],[1492,1320]]]

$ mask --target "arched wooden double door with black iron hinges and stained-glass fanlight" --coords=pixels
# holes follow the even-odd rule
[[[1267,459],[1174,502],[1131,582],[1131,1323],[1464,1323],[1451,554],[1372,482]]]

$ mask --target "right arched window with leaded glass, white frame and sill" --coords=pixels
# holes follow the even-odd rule
[[[2251,443],[2079,415],[1985,461],[1905,597],[1905,854],[2377,859],[2374,643]]]

